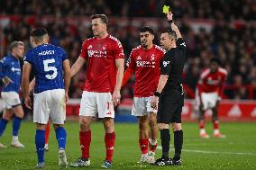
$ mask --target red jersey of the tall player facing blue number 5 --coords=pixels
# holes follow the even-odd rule
[[[87,60],[87,79],[84,90],[87,92],[114,92],[116,84],[115,59],[124,58],[123,46],[112,35],[104,39],[96,37],[83,42],[81,58]]]

